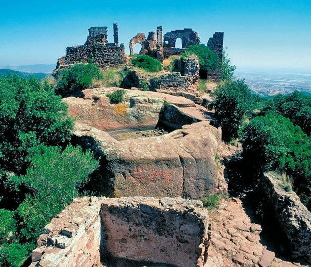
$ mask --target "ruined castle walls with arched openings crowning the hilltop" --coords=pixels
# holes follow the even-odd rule
[[[176,48],[176,40],[182,40],[182,48]],[[224,33],[214,33],[207,46],[219,57],[220,67],[207,73],[208,78],[219,80],[221,74],[221,61],[223,52]],[[100,68],[116,68],[126,63],[124,45],[119,43],[118,25],[113,24],[113,43],[107,42],[107,27],[91,27],[84,45],[67,47],[66,56],[57,61],[53,75],[59,70],[69,69],[77,63],[92,62]],[[180,55],[189,45],[200,44],[197,32],[192,29],[175,30],[163,36],[162,26],[157,27],[157,32],[149,32],[147,37],[143,33],[137,33],[129,41],[130,55],[134,54],[134,45],[140,44],[139,54],[148,55],[163,61],[172,55]]]

